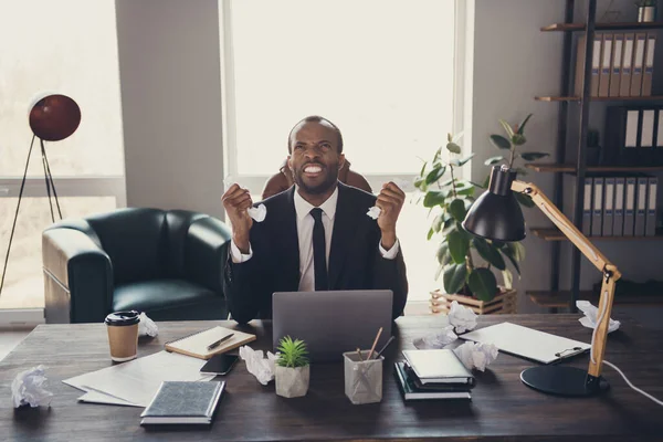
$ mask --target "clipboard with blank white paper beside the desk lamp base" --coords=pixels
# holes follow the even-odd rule
[[[535,330],[512,323],[480,328],[459,336],[481,344],[494,344],[499,351],[541,364],[557,362],[588,351],[591,345]]]

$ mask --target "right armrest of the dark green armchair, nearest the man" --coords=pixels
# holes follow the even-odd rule
[[[223,271],[232,233],[222,221],[206,217],[187,232],[185,271],[187,276],[214,293],[223,294]]]

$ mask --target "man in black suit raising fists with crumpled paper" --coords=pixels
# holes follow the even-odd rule
[[[338,181],[343,137],[312,116],[293,127],[288,167],[295,186],[263,201],[254,222],[251,194],[238,185],[223,194],[233,238],[224,274],[230,313],[244,324],[272,317],[274,292],[391,290],[393,318],[402,315],[408,280],[396,222],[406,194],[393,182],[373,194]],[[377,206],[377,220],[367,215]]]

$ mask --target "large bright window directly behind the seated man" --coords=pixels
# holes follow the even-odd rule
[[[307,115],[334,122],[373,189],[412,180],[455,131],[453,0],[222,0],[227,173],[260,194]],[[260,10],[260,13],[256,11]],[[457,110],[457,108],[455,109]],[[454,126],[456,124],[456,126]],[[399,219],[410,299],[440,286],[428,210]]]

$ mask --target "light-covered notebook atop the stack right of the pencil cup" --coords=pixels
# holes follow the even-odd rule
[[[451,349],[403,350],[421,383],[474,383],[474,376]]]

